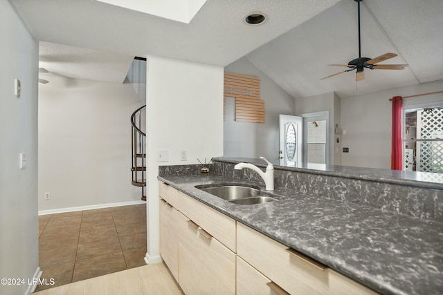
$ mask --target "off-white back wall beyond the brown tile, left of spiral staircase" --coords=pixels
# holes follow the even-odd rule
[[[49,83],[39,85],[39,211],[140,201],[130,171],[129,119],[142,105],[133,86],[45,79]]]

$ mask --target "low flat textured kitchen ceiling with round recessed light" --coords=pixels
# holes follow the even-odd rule
[[[190,23],[93,0],[10,0],[39,41],[226,66],[339,0],[208,0]],[[266,12],[262,26],[244,15]]]

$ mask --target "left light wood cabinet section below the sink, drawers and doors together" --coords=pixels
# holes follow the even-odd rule
[[[159,191],[160,254],[183,292],[235,294],[236,256],[226,246],[235,249],[235,220],[163,182]]]

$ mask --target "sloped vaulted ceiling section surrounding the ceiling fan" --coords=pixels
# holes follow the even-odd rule
[[[343,0],[248,54],[249,60],[293,97],[336,91],[340,97],[443,80],[443,1],[365,0],[361,5],[361,55],[399,56],[381,64],[405,70],[365,70],[320,78],[359,57],[357,4]]]

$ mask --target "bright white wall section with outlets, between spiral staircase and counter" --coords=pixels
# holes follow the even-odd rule
[[[166,150],[168,162],[156,162]],[[180,160],[180,151],[188,160]],[[147,57],[147,260],[159,256],[159,165],[223,155],[223,68]]]

